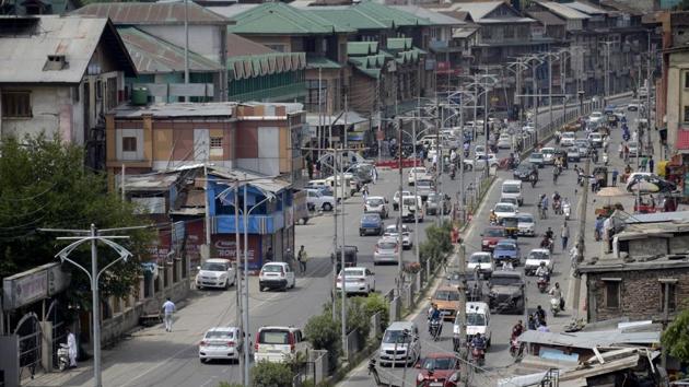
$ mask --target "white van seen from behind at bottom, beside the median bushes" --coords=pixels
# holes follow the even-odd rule
[[[304,340],[302,330],[294,327],[260,327],[254,344],[254,361],[283,363],[289,362],[297,353],[306,353],[308,342]]]

